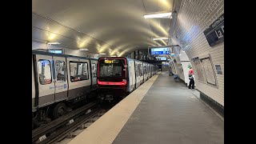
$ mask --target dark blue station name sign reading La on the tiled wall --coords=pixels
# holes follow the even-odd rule
[[[224,14],[203,31],[210,46],[224,42]]]

